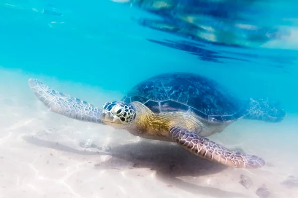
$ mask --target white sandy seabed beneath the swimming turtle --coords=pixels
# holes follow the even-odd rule
[[[278,124],[240,120],[210,137],[268,162],[261,169],[233,169],[172,143],[52,113],[35,98],[28,78],[0,69],[0,198],[258,198],[255,191],[263,184],[271,198],[298,197],[298,189],[281,185],[288,175],[298,176],[294,116]],[[95,105],[121,98],[39,79]],[[97,148],[80,146],[88,140]],[[241,174],[252,179],[249,189],[239,184]]]

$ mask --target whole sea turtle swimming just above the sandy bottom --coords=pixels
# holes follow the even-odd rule
[[[165,73],[137,84],[122,100],[103,108],[29,79],[35,96],[64,116],[125,129],[147,139],[176,142],[199,157],[236,168],[258,168],[265,161],[229,150],[207,139],[240,118],[279,122],[285,111],[267,99],[240,100],[223,86],[193,73]]]

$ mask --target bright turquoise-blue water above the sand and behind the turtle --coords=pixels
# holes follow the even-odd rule
[[[0,71],[117,93],[111,100],[121,99],[153,75],[193,72],[243,99],[279,101],[288,117],[297,120],[296,4],[295,0],[2,0]],[[27,86],[25,78],[9,82]],[[88,96],[83,99],[96,102]],[[295,126],[295,121],[291,123]],[[285,126],[283,130],[275,133],[287,133]]]

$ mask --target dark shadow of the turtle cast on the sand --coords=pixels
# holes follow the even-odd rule
[[[222,198],[247,197],[212,187],[203,187],[185,182],[177,177],[200,177],[212,175],[227,169],[190,153],[175,144],[160,141],[142,141],[138,143],[116,145],[111,151],[88,151],[71,148],[59,143],[24,136],[23,139],[31,144],[72,152],[82,155],[110,155],[109,160],[95,164],[96,169],[149,168],[156,171],[156,178],[170,186],[175,186],[193,194],[204,194]]]

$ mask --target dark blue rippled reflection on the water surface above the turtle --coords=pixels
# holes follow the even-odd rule
[[[215,51],[206,46],[207,44],[252,49],[259,48],[269,41],[288,37],[290,33],[287,29],[257,25],[255,15],[260,14],[262,16],[264,10],[254,4],[256,1],[136,0],[132,4],[160,17],[159,19],[140,18],[137,20],[139,25],[194,41],[192,43],[182,40],[148,38],[149,42],[186,51],[203,61],[223,63],[225,59],[253,62],[249,60],[253,56],[269,60],[273,65],[268,66],[277,68],[284,68],[283,64],[285,63],[295,63],[297,58],[294,56],[281,57],[278,54],[266,56],[250,54],[250,51],[249,53],[242,53],[240,58],[236,57],[237,52]]]

